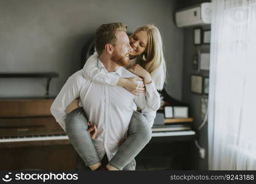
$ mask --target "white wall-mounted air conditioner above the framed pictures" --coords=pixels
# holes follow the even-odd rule
[[[178,28],[210,24],[211,2],[177,10],[175,18]]]

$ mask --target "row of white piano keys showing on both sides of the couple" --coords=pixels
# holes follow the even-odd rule
[[[195,135],[195,131],[173,131],[173,132],[153,132],[152,137],[168,137],[168,136],[190,136]],[[44,135],[44,136],[10,136],[0,137],[0,142],[23,142],[37,140],[66,140],[69,139],[66,134],[60,135]]]

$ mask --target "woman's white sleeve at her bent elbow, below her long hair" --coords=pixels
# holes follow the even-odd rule
[[[158,110],[160,108],[160,94],[153,82],[145,85],[145,99],[150,109]]]

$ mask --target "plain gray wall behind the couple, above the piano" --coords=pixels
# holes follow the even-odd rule
[[[155,24],[161,31],[169,94],[181,99],[183,30],[176,1],[0,0],[0,72],[58,72],[50,96],[80,69],[80,53],[102,23],[122,21],[128,32]],[[0,98],[44,96],[45,79],[0,79]]]

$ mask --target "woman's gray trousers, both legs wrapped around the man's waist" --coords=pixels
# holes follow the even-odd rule
[[[101,162],[98,153],[88,133],[88,119],[83,107],[72,110],[66,117],[66,133],[79,156],[77,169],[90,170],[93,164]],[[134,171],[136,162],[134,157],[145,147],[152,137],[152,130],[145,117],[134,111],[127,132],[128,139],[118,148],[117,153],[109,161],[111,166],[119,170]],[[106,159],[106,155],[103,159]],[[83,164],[81,164],[83,163]]]

